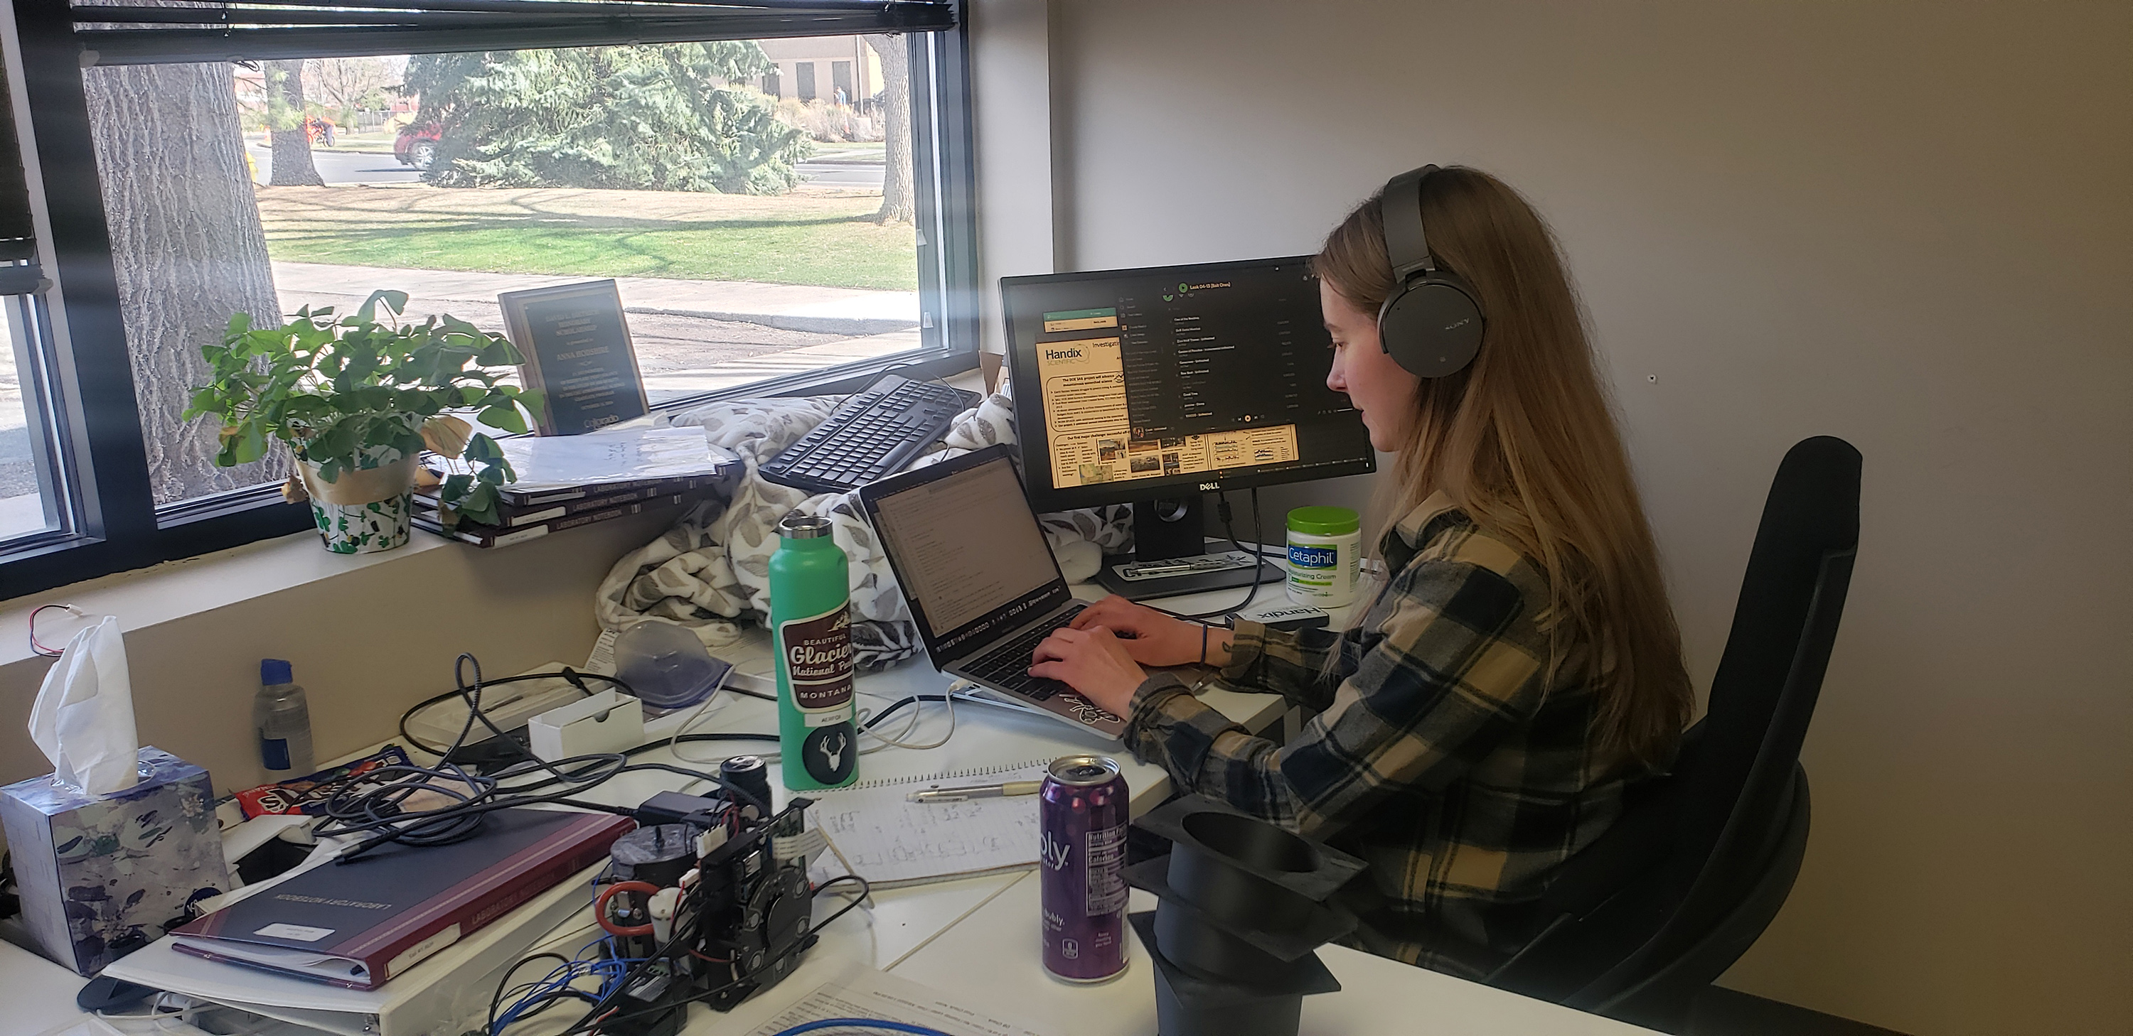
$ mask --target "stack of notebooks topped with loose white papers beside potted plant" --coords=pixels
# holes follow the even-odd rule
[[[482,548],[540,539],[646,507],[687,503],[725,486],[740,460],[710,446],[702,428],[499,439],[518,480],[497,488],[497,522],[461,518],[446,529],[437,490],[416,492],[414,524]],[[442,467],[433,463],[439,473]]]

